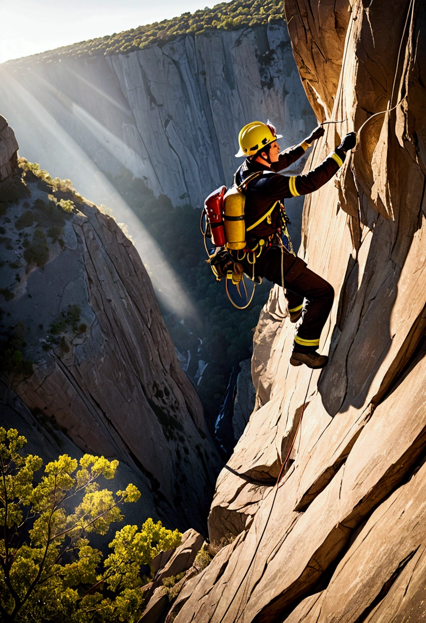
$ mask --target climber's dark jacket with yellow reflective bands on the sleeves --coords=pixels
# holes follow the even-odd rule
[[[245,191],[245,227],[246,230],[257,221],[262,219],[273,204],[284,199],[313,193],[337,173],[343,164],[345,153],[336,149],[327,156],[321,164],[305,175],[285,176],[275,173],[288,168],[290,164],[301,158],[305,150],[300,145],[288,151],[280,153],[278,162],[272,164],[271,169],[265,170],[262,164],[246,158],[244,163],[235,173],[235,183],[240,184],[255,171],[263,174],[249,182]],[[263,219],[252,230],[247,231],[246,239],[250,237],[262,238],[275,234],[277,227],[281,225],[280,206],[277,204],[270,215]]]

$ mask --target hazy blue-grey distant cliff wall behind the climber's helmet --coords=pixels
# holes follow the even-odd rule
[[[179,37],[128,55],[9,62],[0,67],[0,101],[21,153],[97,202],[106,201],[81,170],[81,148],[95,171],[124,166],[174,205],[195,207],[232,182],[245,123],[270,118],[283,147],[315,125],[285,22]],[[51,134],[55,122],[61,133]]]

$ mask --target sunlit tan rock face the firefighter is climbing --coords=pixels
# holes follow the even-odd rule
[[[300,255],[336,292],[329,365],[289,366],[294,328],[274,288],[255,335],[256,409],[209,518],[211,538],[238,536],[174,621],[425,621],[425,6],[287,0],[286,18],[318,115],[347,118],[326,126],[310,168],[397,106],[305,200]]]

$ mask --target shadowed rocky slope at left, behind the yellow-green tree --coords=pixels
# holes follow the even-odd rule
[[[5,128],[1,170],[13,173]],[[0,197],[12,389],[83,451],[118,458],[143,494],[140,515],[201,530],[217,455],[135,247],[114,219],[26,162]]]

